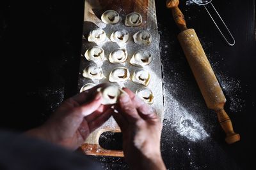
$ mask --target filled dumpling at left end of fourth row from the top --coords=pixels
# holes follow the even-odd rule
[[[104,78],[102,68],[93,65],[89,65],[83,70],[83,76],[92,80],[101,80]]]

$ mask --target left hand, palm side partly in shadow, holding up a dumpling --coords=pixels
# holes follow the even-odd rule
[[[110,106],[101,104],[102,96],[96,92],[102,86],[104,84],[63,101],[45,124],[26,134],[76,150],[113,113]]]

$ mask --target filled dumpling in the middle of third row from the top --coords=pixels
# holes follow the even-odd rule
[[[113,64],[118,64],[118,63],[122,63],[125,62],[125,60],[127,59],[128,53],[127,50],[125,49],[118,49],[118,50],[114,50],[113,52],[111,52],[109,54],[109,62],[113,63]]]

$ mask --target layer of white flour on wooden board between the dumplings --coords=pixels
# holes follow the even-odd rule
[[[151,16],[151,17],[147,18],[147,20],[143,20],[142,25],[146,25],[143,27],[126,27],[124,25],[124,18],[127,13],[124,13],[122,8],[119,8],[116,11],[120,15],[120,22],[118,22],[115,25],[104,24],[101,22],[101,20],[99,18],[95,18],[95,15],[93,15],[93,16],[90,15],[91,16],[90,17],[89,15],[87,16],[87,14],[86,14],[86,16],[87,16],[87,17],[85,17],[86,21],[93,22],[95,27],[99,27],[100,29],[103,29],[106,32],[107,37],[108,37],[106,39],[106,41],[104,41],[103,43],[97,44],[98,46],[103,48],[104,52],[105,52],[106,59],[103,61],[103,64],[101,67],[102,67],[102,70],[104,71],[104,76],[106,76],[106,78],[102,79],[102,80],[95,81],[95,80],[87,80],[80,76],[81,78],[79,78],[78,87],[80,89],[86,83],[95,83],[95,84],[109,83],[109,80],[108,80],[109,73],[111,73],[111,71],[115,67],[120,67],[120,66],[126,67],[127,69],[129,69],[130,73],[132,74],[136,69],[139,68],[139,67],[129,64],[129,60],[131,60],[132,55],[137,50],[141,50],[141,49],[147,50],[147,52],[149,52],[153,56],[152,62],[150,62],[150,64],[148,64],[147,66],[144,66],[144,68],[150,73],[150,76],[151,76],[150,83],[147,86],[147,88],[152,90],[152,92],[154,94],[154,103],[151,106],[156,110],[157,115],[159,115],[159,118],[161,120],[163,120],[163,84],[162,84],[161,59],[159,57],[160,56],[159,41],[152,41],[150,45],[138,45],[138,44],[134,43],[134,41],[132,39],[132,35],[134,35],[138,31],[143,31],[143,30],[150,32],[153,39],[155,39],[155,40],[159,39],[159,34],[157,32],[157,25],[156,24],[147,24],[147,22],[148,23],[155,22],[155,19],[156,19],[155,18],[156,17],[155,10],[153,10],[153,9],[150,10],[150,15],[148,15],[147,17],[149,17],[149,16]],[[143,14],[141,14],[141,15],[143,15]],[[143,17],[145,17],[145,16],[143,16]],[[88,24],[88,22],[87,22],[87,24]],[[84,28],[86,28],[86,25],[84,26]],[[120,43],[113,43],[112,41],[110,41],[109,35],[111,35],[113,31],[122,30],[122,29],[125,29],[130,34],[127,43],[120,44]],[[84,43],[82,44],[80,68],[84,68],[86,66],[86,64],[90,64],[86,61],[86,59],[84,59],[84,56],[83,56],[85,50],[87,50],[90,47],[90,45],[92,45],[91,43],[88,43],[88,41],[86,40],[88,37],[88,31],[90,31],[90,30],[83,32]],[[109,53],[113,52],[113,50],[116,50],[118,48],[127,50],[127,53],[128,53],[127,60],[124,63],[111,64],[108,60]],[[132,82],[131,80],[129,80],[127,82],[118,82],[118,85],[120,87],[127,87],[127,88],[131,89],[133,92],[136,92],[136,90],[138,90],[139,88],[142,87],[141,85],[137,85],[136,83]],[[113,117],[109,118],[109,120],[106,123],[104,123],[104,125],[102,125],[102,127],[100,127],[100,128],[103,128],[103,127],[106,129],[117,129],[118,128]]]

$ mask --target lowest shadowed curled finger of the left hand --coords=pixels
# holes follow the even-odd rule
[[[95,118],[95,120],[93,120],[92,122],[88,123],[88,127],[90,129],[90,132],[95,131],[95,129],[100,127],[100,125],[104,124],[109,119],[109,117],[111,117],[113,111],[114,110],[112,108],[109,108],[107,111],[102,113],[102,115]]]

